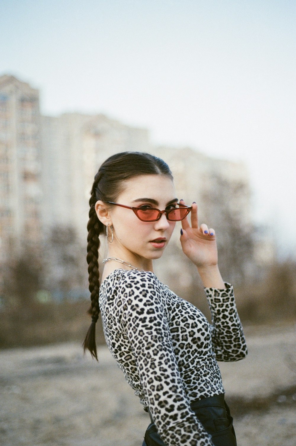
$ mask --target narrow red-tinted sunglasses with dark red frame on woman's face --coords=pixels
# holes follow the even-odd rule
[[[180,220],[183,220],[192,210],[192,206],[185,206],[180,203],[177,203],[177,206],[179,207],[165,209],[164,211],[159,211],[159,209],[155,209],[153,207],[145,208],[125,206],[124,204],[113,203],[112,201],[107,201],[107,203],[126,207],[126,209],[131,209],[133,213],[137,215],[138,219],[140,219],[142,222],[156,222],[161,218],[163,214],[166,214],[167,220],[171,222],[179,222]]]

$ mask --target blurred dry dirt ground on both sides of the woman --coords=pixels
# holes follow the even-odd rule
[[[245,332],[247,358],[220,363],[238,446],[296,446],[296,327]],[[73,343],[0,351],[0,444],[141,446],[149,417],[106,347],[98,355]]]

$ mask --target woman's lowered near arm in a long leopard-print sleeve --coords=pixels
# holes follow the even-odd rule
[[[213,446],[190,409],[158,282],[153,273],[136,274],[139,283],[133,284],[129,297],[125,298],[121,325],[129,338],[158,432],[167,446]]]

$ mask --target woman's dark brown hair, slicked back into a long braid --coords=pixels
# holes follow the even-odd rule
[[[97,358],[96,352],[96,321],[99,307],[99,235],[104,233],[105,226],[96,215],[95,204],[98,200],[103,202],[116,202],[118,195],[124,189],[124,181],[139,175],[167,175],[173,179],[168,165],[158,157],[142,152],[122,152],[109,157],[100,166],[92,185],[89,200],[88,220],[88,281],[91,292],[92,323],[83,342],[83,351],[89,350],[92,357]]]

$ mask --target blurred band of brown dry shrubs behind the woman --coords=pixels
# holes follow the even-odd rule
[[[0,347],[25,347],[69,341],[82,343],[90,324],[89,301],[37,301],[36,290],[41,283],[38,271],[41,270],[38,270],[37,260],[32,262],[32,256],[30,260],[16,263],[6,277],[6,295],[0,307]],[[295,321],[295,272],[295,260],[288,259],[273,264],[264,280],[235,287],[242,322],[259,324]],[[182,288],[182,281],[175,281],[175,284],[172,281],[172,289],[192,301],[210,318],[201,283],[196,272],[190,273],[195,279],[189,288]],[[101,318],[98,320],[96,331],[97,343],[104,343]]]

